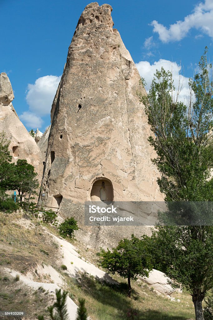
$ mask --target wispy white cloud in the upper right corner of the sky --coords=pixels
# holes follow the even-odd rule
[[[187,15],[183,21],[176,21],[169,28],[156,20],[153,20],[151,25],[153,31],[158,33],[160,40],[164,43],[183,39],[192,28],[196,28],[213,38],[213,1],[205,0],[204,3],[196,5],[194,11]]]

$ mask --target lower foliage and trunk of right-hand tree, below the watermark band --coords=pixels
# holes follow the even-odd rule
[[[159,226],[152,236],[155,268],[173,288],[192,296],[197,320],[203,320],[202,300],[213,287],[213,227]]]

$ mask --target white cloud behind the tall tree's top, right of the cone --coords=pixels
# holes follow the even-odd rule
[[[178,65],[176,62],[160,59],[158,61],[155,61],[153,64],[150,64],[148,61],[140,61],[139,63],[136,63],[136,67],[140,75],[145,79],[147,83],[147,91],[149,91],[150,89],[150,85],[154,77],[154,73],[156,73],[156,69],[160,70],[163,67],[166,71],[171,71],[174,79],[176,93],[178,88],[181,89],[179,94],[179,101],[183,101],[185,103],[187,102],[189,97],[189,78],[180,74],[181,66]]]

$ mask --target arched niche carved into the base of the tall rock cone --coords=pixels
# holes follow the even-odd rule
[[[90,192],[92,201],[113,201],[113,187],[109,179],[97,178]]]

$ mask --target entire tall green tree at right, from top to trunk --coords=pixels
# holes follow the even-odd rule
[[[152,161],[161,173],[157,182],[169,211],[173,201],[213,201],[211,68],[205,48],[199,72],[189,81],[187,107],[178,97],[174,99],[172,74],[163,68],[156,71],[148,96],[141,96],[153,132],[149,142],[157,154]],[[182,224],[185,221],[188,226],[158,226],[152,250],[156,267],[171,278],[173,287],[189,290],[196,320],[204,320],[202,300],[213,287],[213,227],[190,225],[191,215],[191,210],[182,210]],[[164,217],[161,215],[161,222]]]

